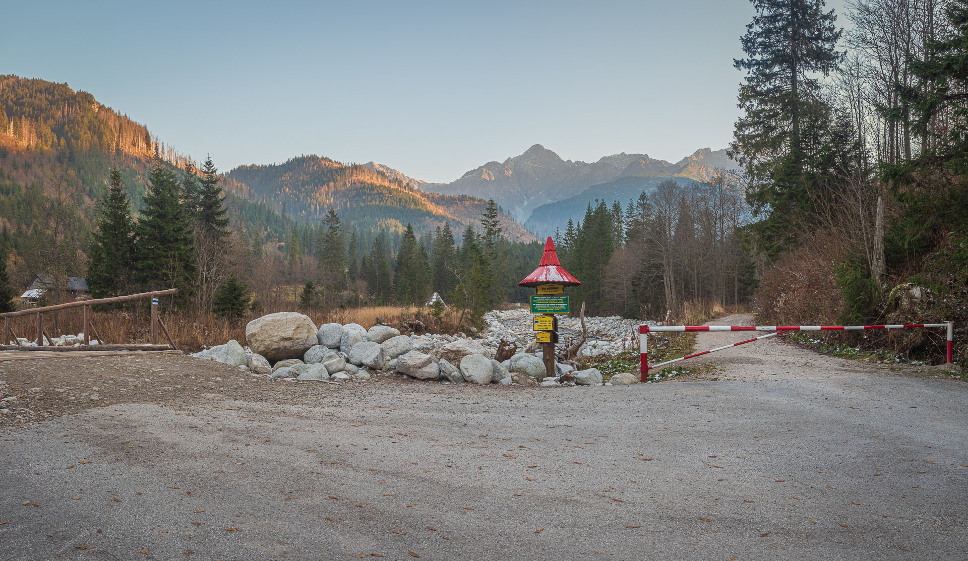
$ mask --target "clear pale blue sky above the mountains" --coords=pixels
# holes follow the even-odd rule
[[[725,147],[753,10],[36,0],[0,14],[0,74],[68,82],[223,170],[319,154],[449,182],[534,143],[585,161]]]

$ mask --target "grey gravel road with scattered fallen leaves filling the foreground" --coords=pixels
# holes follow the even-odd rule
[[[0,559],[965,559],[968,385],[777,339],[711,355],[719,381],[596,388],[155,357],[195,393],[0,428]]]

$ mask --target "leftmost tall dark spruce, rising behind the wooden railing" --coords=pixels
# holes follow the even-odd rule
[[[121,173],[112,169],[98,231],[88,252],[87,280],[94,298],[121,296],[132,288],[135,274],[135,222]]]

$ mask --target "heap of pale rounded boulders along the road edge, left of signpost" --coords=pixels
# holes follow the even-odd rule
[[[378,373],[399,373],[420,380],[449,383],[520,385],[600,385],[597,369],[572,371],[558,365],[558,376],[545,377],[541,354],[519,352],[498,362],[492,344],[462,336],[401,335],[385,325],[370,329],[356,323],[327,323],[318,328],[307,315],[278,312],[246,326],[248,347],[236,340],[191,356],[225,363],[254,375],[295,380],[366,380]]]

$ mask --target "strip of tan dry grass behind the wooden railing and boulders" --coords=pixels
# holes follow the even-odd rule
[[[137,344],[151,342],[151,315],[147,307],[132,310],[94,311],[91,314],[97,334],[102,342],[109,344]],[[239,320],[227,320],[213,314],[176,311],[161,313],[168,333],[181,350],[194,352],[203,346],[225,343],[227,340],[237,340],[245,344],[245,326],[259,317],[260,313],[252,312]],[[373,308],[356,308],[346,310],[310,311],[307,313],[318,326],[323,323],[358,323],[370,328],[377,324],[377,320],[400,329],[403,333],[411,333],[408,323],[418,320],[431,331],[437,333],[455,333],[458,330],[457,320],[460,310],[444,310],[440,320],[434,317],[430,310],[423,308],[402,308],[397,306],[378,306]],[[45,313],[44,327],[50,337],[60,335],[77,335],[82,330],[81,311],[61,310],[55,313]],[[15,317],[11,322],[14,333],[27,340],[37,338],[36,316],[27,315]],[[95,339],[92,331],[91,338]],[[159,342],[166,343],[164,332],[159,330]]]

